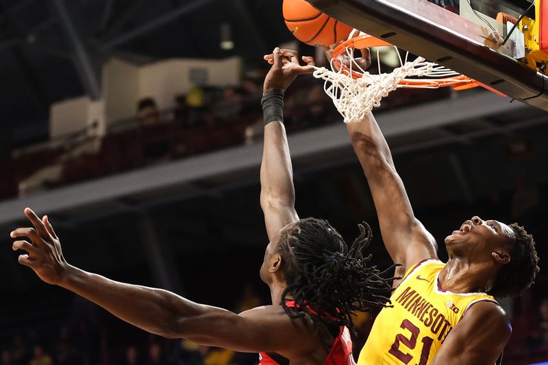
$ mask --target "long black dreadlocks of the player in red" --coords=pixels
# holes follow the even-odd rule
[[[356,329],[351,316],[356,310],[390,306],[388,295],[394,278],[369,265],[371,255],[363,251],[371,243],[371,228],[359,224],[360,236],[347,247],[344,239],[322,219],[297,221],[280,237],[280,255],[284,262],[287,287],[282,293],[282,307],[291,318],[304,318],[327,327]],[[295,306],[286,305],[286,297]]]

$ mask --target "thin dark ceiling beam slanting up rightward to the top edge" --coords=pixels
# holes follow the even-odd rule
[[[60,1],[60,0],[57,0]],[[162,25],[166,25],[167,23],[171,23],[172,21],[175,21],[180,16],[183,16],[185,14],[188,14],[192,12],[193,10],[200,8],[203,5],[206,5],[206,3],[209,3],[213,0],[194,0],[187,2],[186,4],[182,5],[181,7],[170,11],[166,14],[163,14],[161,16],[158,16],[158,18],[153,19],[149,23],[142,25],[140,27],[136,27],[135,29],[132,29],[128,31],[127,33],[123,33],[120,36],[117,36],[113,38],[112,40],[109,40],[105,44],[103,44],[102,49],[104,51],[113,49],[116,46],[120,46],[121,44],[127,43],[131,40],[134,40],[135,38],[138,38],[142,36],[145,33],[148,33],[149,31],[153,31],[154,29],[158,27],[162,27]]]

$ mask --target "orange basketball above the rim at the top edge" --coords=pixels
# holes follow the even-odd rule
[[[282,8],[288,29],[311,46],[330,46],[348,38],[352,28],[323,14],[305,0],[284,0]]]

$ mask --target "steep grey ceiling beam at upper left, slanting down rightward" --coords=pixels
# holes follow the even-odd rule
[[[99,57],[94,59],[90,55],[64,1],[51,0],[47,1],[47,4],[53,16],[57,19],[67,42],[69,42],[73,65],[76,68],[80,82],[84,86],[84,90],[86,90],[86,94],[92,100],[97,100],[101,97],[101,78],[99,77],[99,62],[97,62]]]

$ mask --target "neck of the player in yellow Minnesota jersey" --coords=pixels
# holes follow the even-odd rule
[[[440,271],[438,284],[452,293],[485,293],[492,286],[492,272],[485,263],[455,257]]]

